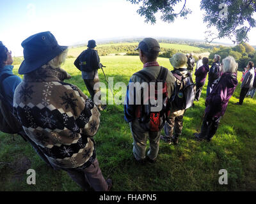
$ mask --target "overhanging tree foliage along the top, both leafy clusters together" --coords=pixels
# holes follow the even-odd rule
[[[161,20],[168,23],[174,22],[177,17],[186,18],[191,13],[191,10],[186,8],[186,0],[127,1],[140,4],[137,13],[145,17],[145,22],[151,24],[156,23],[157,12],[162,13]],[[180,3],[184,6],[178,13],[175,13],[175,8]],[[256,21],[253,18],[256,12],[256,0],[201,0],[200,9],[205,11],[204,22],[209,29],[205,32],[207,34],[205,40],[208,42],[227,37],[239,44],[248,41],[248,32],[256,27]],[[212,33],[211,27],[216,27],[218,34]]]

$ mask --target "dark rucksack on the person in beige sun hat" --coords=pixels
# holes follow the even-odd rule
[[[193,105],[196,95],[196,85],[190,73],[187,73],[185,77],[179,75],[178,73],[172,71],[172,74],[177,80],[180,81],[180,85],[175,83],[175,96],[172,101],[173,110],[186,110]],[[182,85],[182,88],[180,89]]]

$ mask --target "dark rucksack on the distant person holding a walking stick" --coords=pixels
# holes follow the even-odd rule
[[[96,70],[95,68],[93,68],[93,63],[92,63],[93,52],[97,52],[97,51],[88,49],[88,50],[84,50],[84,52],[80,55],[79,64],[80,64],[81,71],[91,72]]]

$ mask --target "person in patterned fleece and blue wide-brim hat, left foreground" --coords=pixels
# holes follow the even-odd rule
[[[23,81],[15,89],[13,109],[22,128],[51,165],[67,171],[84,190],[108,191],[92,139],[99,129],[100,113],[93,101],[61,69],[67,46],[58,45],[49,32],[37,33],[22,42]]]

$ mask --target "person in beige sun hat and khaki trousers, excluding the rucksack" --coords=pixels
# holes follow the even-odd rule
[[[170,58],[170,62],[174,68],[172,71],[173,76],[175,77],[176,84],[176,92],[186,84],[182,84],[181,78],[190,77],[187,69],[187,61],[188,58],[185,54],[177,53]],[[177,145],[179,136],[182,133],[183,128],[183,115],[185,113],[185,109],[181,110],[180,107],[175,106],[175,103],[172,105],[171,113],[169,116],[169,121],[164,124],[164,136],[161,135],[161,140],[166,143]]]

